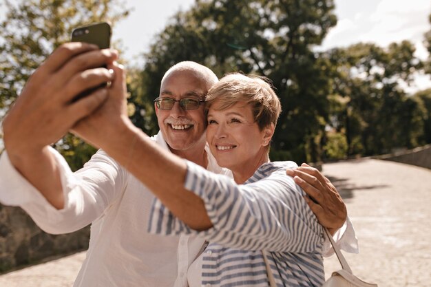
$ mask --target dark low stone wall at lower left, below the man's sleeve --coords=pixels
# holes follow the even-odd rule
[[[19,207],[0,204],[0,273],[88,248],[90,227],[65,235],[41,231]]]

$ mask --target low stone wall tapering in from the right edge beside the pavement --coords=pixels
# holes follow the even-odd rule
[[[431,145],[417,147],[416,149],[411,149],[409,151],[400,151],[399,153],[392,153],[377,158],[431,169]]]

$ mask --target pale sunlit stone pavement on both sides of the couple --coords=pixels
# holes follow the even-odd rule
[[[360,159],[324,164],[348,207],[359,255],[346,254],[353,273],[379,287],[431,286],[431,170]],[[0,286],[70,287],[85,253],[0,275]],[[325,259],[326,277],[339,269]]]

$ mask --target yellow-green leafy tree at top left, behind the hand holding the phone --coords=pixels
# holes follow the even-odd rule
[[[13,103],[52,50],[70,41],[73,28],[100,21],[115,25],[128,14],[118,0],[32,0],[18,1],[17,5],[5,0],[4,5],[7,13],[0,23],[0,109]],[[56,147],[75,169],[94,152],[72,136],[63,138]],[[75,149],[85,150],[87,156],[78,160]]]

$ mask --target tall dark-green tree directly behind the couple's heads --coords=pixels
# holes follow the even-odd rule
[[[273,159],[319,160],[330,86],[313,47],[335,25],[333,10],[332,0],[197,1],[156,36],[145,55],[140,98],[154,99],[162,74],[178,61],[197,61],[218,76],[267,76],[283,107]]]

